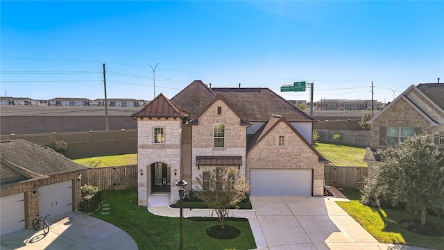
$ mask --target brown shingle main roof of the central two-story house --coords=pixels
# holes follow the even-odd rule
[[[218,94],[250,122],[266,122],[272,114],[282,115],[290,122],[316,122],[268,88],[210,89],[202,81],[194,81],[171,98],[171,102],[189,113],[192,119]]]

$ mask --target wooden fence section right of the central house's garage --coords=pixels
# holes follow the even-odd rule
[[[325,185],[336,188],[364,188],[368,167],[324,167]]]

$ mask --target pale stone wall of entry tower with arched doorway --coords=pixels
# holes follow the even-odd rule
[[[154,128],[164,128],[164,144],[154,144]],[[176,182],[180,180],[182,119],[152,118],[137,119],[137,166],[144,172],[137,175],[138,205],[148,206],[151,194],[151,164],[165,163],[171,166],[171,203],[176,203],[179,194]],[[177,169],[175,176],[173,171]]]

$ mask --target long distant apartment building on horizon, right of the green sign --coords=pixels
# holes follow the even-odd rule
[[[372,100],[321,99],[315,106],[317,110],[368,110],[372,108]],[[373,108],[381,110],[382,103],[373,100]]]

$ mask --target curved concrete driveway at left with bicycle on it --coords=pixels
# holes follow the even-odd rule
[[[1,235],[0,249],[137,249],[133,238],[120,228],[80,213],[51,218],[49,233],[22,229]]]

